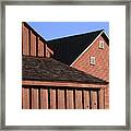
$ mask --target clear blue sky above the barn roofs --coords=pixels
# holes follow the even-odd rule
[[[108,22],[27,22],[46,40],[105,29],[109,36]]]

